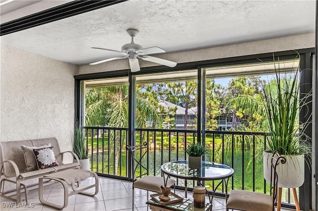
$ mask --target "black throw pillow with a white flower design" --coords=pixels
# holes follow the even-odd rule
[[[38,169],[44,169],[59,165],[54,156],[53,146],[33,149],[33,153],[37,161]]]

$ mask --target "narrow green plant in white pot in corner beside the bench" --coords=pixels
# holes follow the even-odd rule
[[[85,144],[84,132],[78,123],[74,128],[72,148],[74,153],[79,157],[80,168],[89,170],[89,157]]]

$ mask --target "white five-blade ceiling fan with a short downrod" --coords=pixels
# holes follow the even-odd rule
[[[127,29],[127,33],[131,36],[131,43],[123,45],[121,47],[121,51],[110,50],[105,48],[93,48],[93,49],[116,52],[119,54],[123,54],[124,56],[101,60],[98,62],[90,63],[89,65],[97,65],[103,62],[109,62],[112,60],[119,60],[119,59],[125,59],[125,58],[129,59],[130,70],[132,72],[137,72],[140,70],[138,58],[149,61],[149,62],[158,63],[160,65],[168,66],[171,68],[177,65],[175,62],[148,56],[149,54],[159,54],[159,53],[164,53],[165,51],[159,47],[143,48],[141,45],[134,43],[134,37],[138,34],[138,32],[139,31],[137,29]]]

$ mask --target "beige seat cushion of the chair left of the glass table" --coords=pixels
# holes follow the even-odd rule
[[[173,179],[168,178],[166,187],[170,187],[175,183]],[[148,191],[161,192],[160,186],[164,186],[163,177],[145,176],[134,182],[134,188],[140,188]]]

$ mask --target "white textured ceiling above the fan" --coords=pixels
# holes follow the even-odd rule
[[[1,36],[1,43],[76,65],[130,42],[167,53],[315,32],[315,0],[129,0]]]

